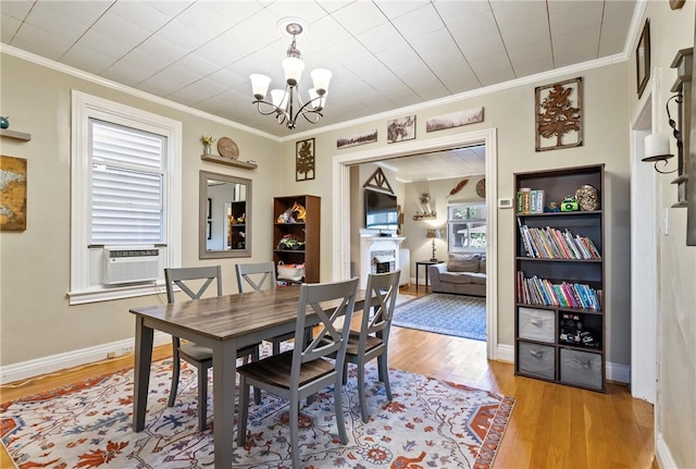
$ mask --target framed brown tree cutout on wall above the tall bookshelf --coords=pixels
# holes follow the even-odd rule
[[[537,86],[534,92],[536,151],[583,145],[583,78]]]

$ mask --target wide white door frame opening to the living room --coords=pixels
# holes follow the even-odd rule
[[[497,180],[497,128],[453,134],[445,137],[424,140],[405,141],[398,146],[381,147],[333,157],[333,255],[332,276],[334,280],[350,276],[350,223],[346,223],[346,207],[350,207],[350,166],[381,161],[390,158],[414,156],[433,151],[443,151],[469,145],[484,145],[486,147],[486,209],[487,219],[487,249],[486,249],[486,356],[498,359],[498,197]],[[508,355],[505,359],[508,359]]]

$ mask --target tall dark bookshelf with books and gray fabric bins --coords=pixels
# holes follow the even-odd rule
[[[604,164],[514,174],[518,375],[606,392],[604,181]]]

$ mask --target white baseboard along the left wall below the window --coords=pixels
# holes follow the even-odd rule
[[[170,334],[156,331],[153,341],[156,346],[164,345],[171,343],[172,336]],[[126,338],[109,344],[97,345],[95,347],[0,367],[0,385],[27,380],[41,374],[53,373],[66,368],[94,363],[95,361],[100,361],[107,358],[119,357],[121,355],[129,354],[134,348],[135,338]]]

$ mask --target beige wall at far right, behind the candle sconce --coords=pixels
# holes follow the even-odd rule
[[[676,72],[670,65],[678,50],[694,46],[695,15],[693,1],[687,1],[676,11],[670,10],[666,2],[647,2],[643,22],[646,17],[650,18],[650,62],[652,67],[660,67],[660,132],[671,133],[664,102],[673,95],[670,88]],[[635,63],[634,60],[635,57],[632,57],[632,63]],[[634,78],[633,73],[631,77]],[[633,91],[635,85],[631,89]],[[631,92],[631,98],[633,111],[638,108],[637,95]],[[671,111],[675,119],[676,107],[672,107]],[[692,120],[694,112],[692,109]],[[670,145],[671,151],[676,155],[674,139],[670,138]],[[676,201],[676,188],[670,184],[673,178],[673,174],[658,175],[660,210]],[[696,197],[696,194],[691,197]],[[659,439],[658,448],[660,444],[669,448],[675,467],[692,468],[696,467],[696,247],[686,246],[686,209],[669,208],[668,211],[669,234],[658,237],[660,281],[656,434]],[[639,363],[634,366],[638,367]]]

